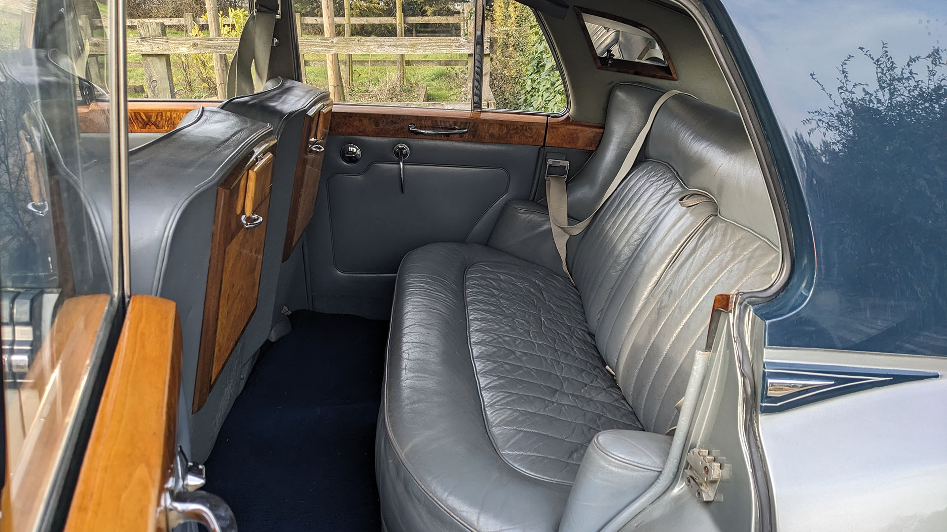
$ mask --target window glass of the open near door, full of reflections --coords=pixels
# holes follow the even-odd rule
[[[10,530],[56,510],[116,327],[109,133],[86,133],[109,63],[95,0],[0,0],[0,355]],[[98,24],[95,22],[98,21]],[[98,78],[97,78],[98,77]],[[98,83],[96,81],[98,81]],[[106,129],[107,131],[107,129]],[[47,504],[47,502],[54,502]]]

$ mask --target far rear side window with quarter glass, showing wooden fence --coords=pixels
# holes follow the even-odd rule
[[[474,2],[335,4],[296,4],[306,82],[336,101],[470,109]],[[495,0],[485,19],[483,107],[561,112],[563,81],[532,10]]]

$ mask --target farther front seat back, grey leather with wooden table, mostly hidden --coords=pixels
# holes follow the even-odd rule
[[[290,257],[313,216],[332,101],[327,91],[275,78],[259,93],[230,98],[220,108],[270,124],[278,140],[259,304],[245,333],[248,346],[260,346],[286,304],[300,266],[297,257]]]

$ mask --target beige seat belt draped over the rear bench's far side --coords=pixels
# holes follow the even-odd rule
[[[641,147],[644,146],[645,138],[647,138],[654,124],[654,116],[657,115],[658,110],[661,109],[664,102],[668,101],[672,96],[680,94],[686,93],[682,93],[681,91],[668,91],[664,93],[661,98],[657,98],[657,101],[654,102],[654,107],[652,107],[651,115],[648,115],[648,120],[645,122],[644,127],[641,128],[641,132],[638,133],[637,138],[634,139],[632,149],[629,150],[628,155],[625,156],[625,160],[621,163],[621,167],[618,168],[615,177],[612,179],[612,183],[605,190],[605,194],[602,195],[599,204],[592,210],[592,214],[585,220],[575,225],[569,225],[569,200],[565,193],[566,176],[549,175],[548,172],[546,173],[545,198],[546,204],[549,207],[549,226],[552,228],[552,239],[556,242],[556,250],[559,251],[559,257],[563,259],[563,272],[569,276],[570,280],[572,279],[572,275],[569,275],[569,268],[565,264],[565,243],[569,240],[570,236],[578,235],[584,231],[589,223],[592,222],[592,219],[595,218],[596,213],[599,212],[601,205],[605,204],[612,194],[615,193],[618,186],[624,181],[625,176],[631,171],[634,160],[638,158],[638,152],[640,152]]]

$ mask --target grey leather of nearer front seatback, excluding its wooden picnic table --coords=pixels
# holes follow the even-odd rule
[[[188,412],[204,321],[217,186],[272,133],[268,124],[203,107],[185,116],[177,129],[129,153],[132,293],[166,297],[177,304]],[[83,180],[97,201],[99,217],[111,220],[107,161],[86,168]],[[106,236],[111,241],[111,224],[106,225]],[[217,397],[211,394],[204,409],[220,407],[214,403]],[[216,429],[192,425],[191,430],[192,458],[203,461],[209,447],[202,445],[213,441]]]

